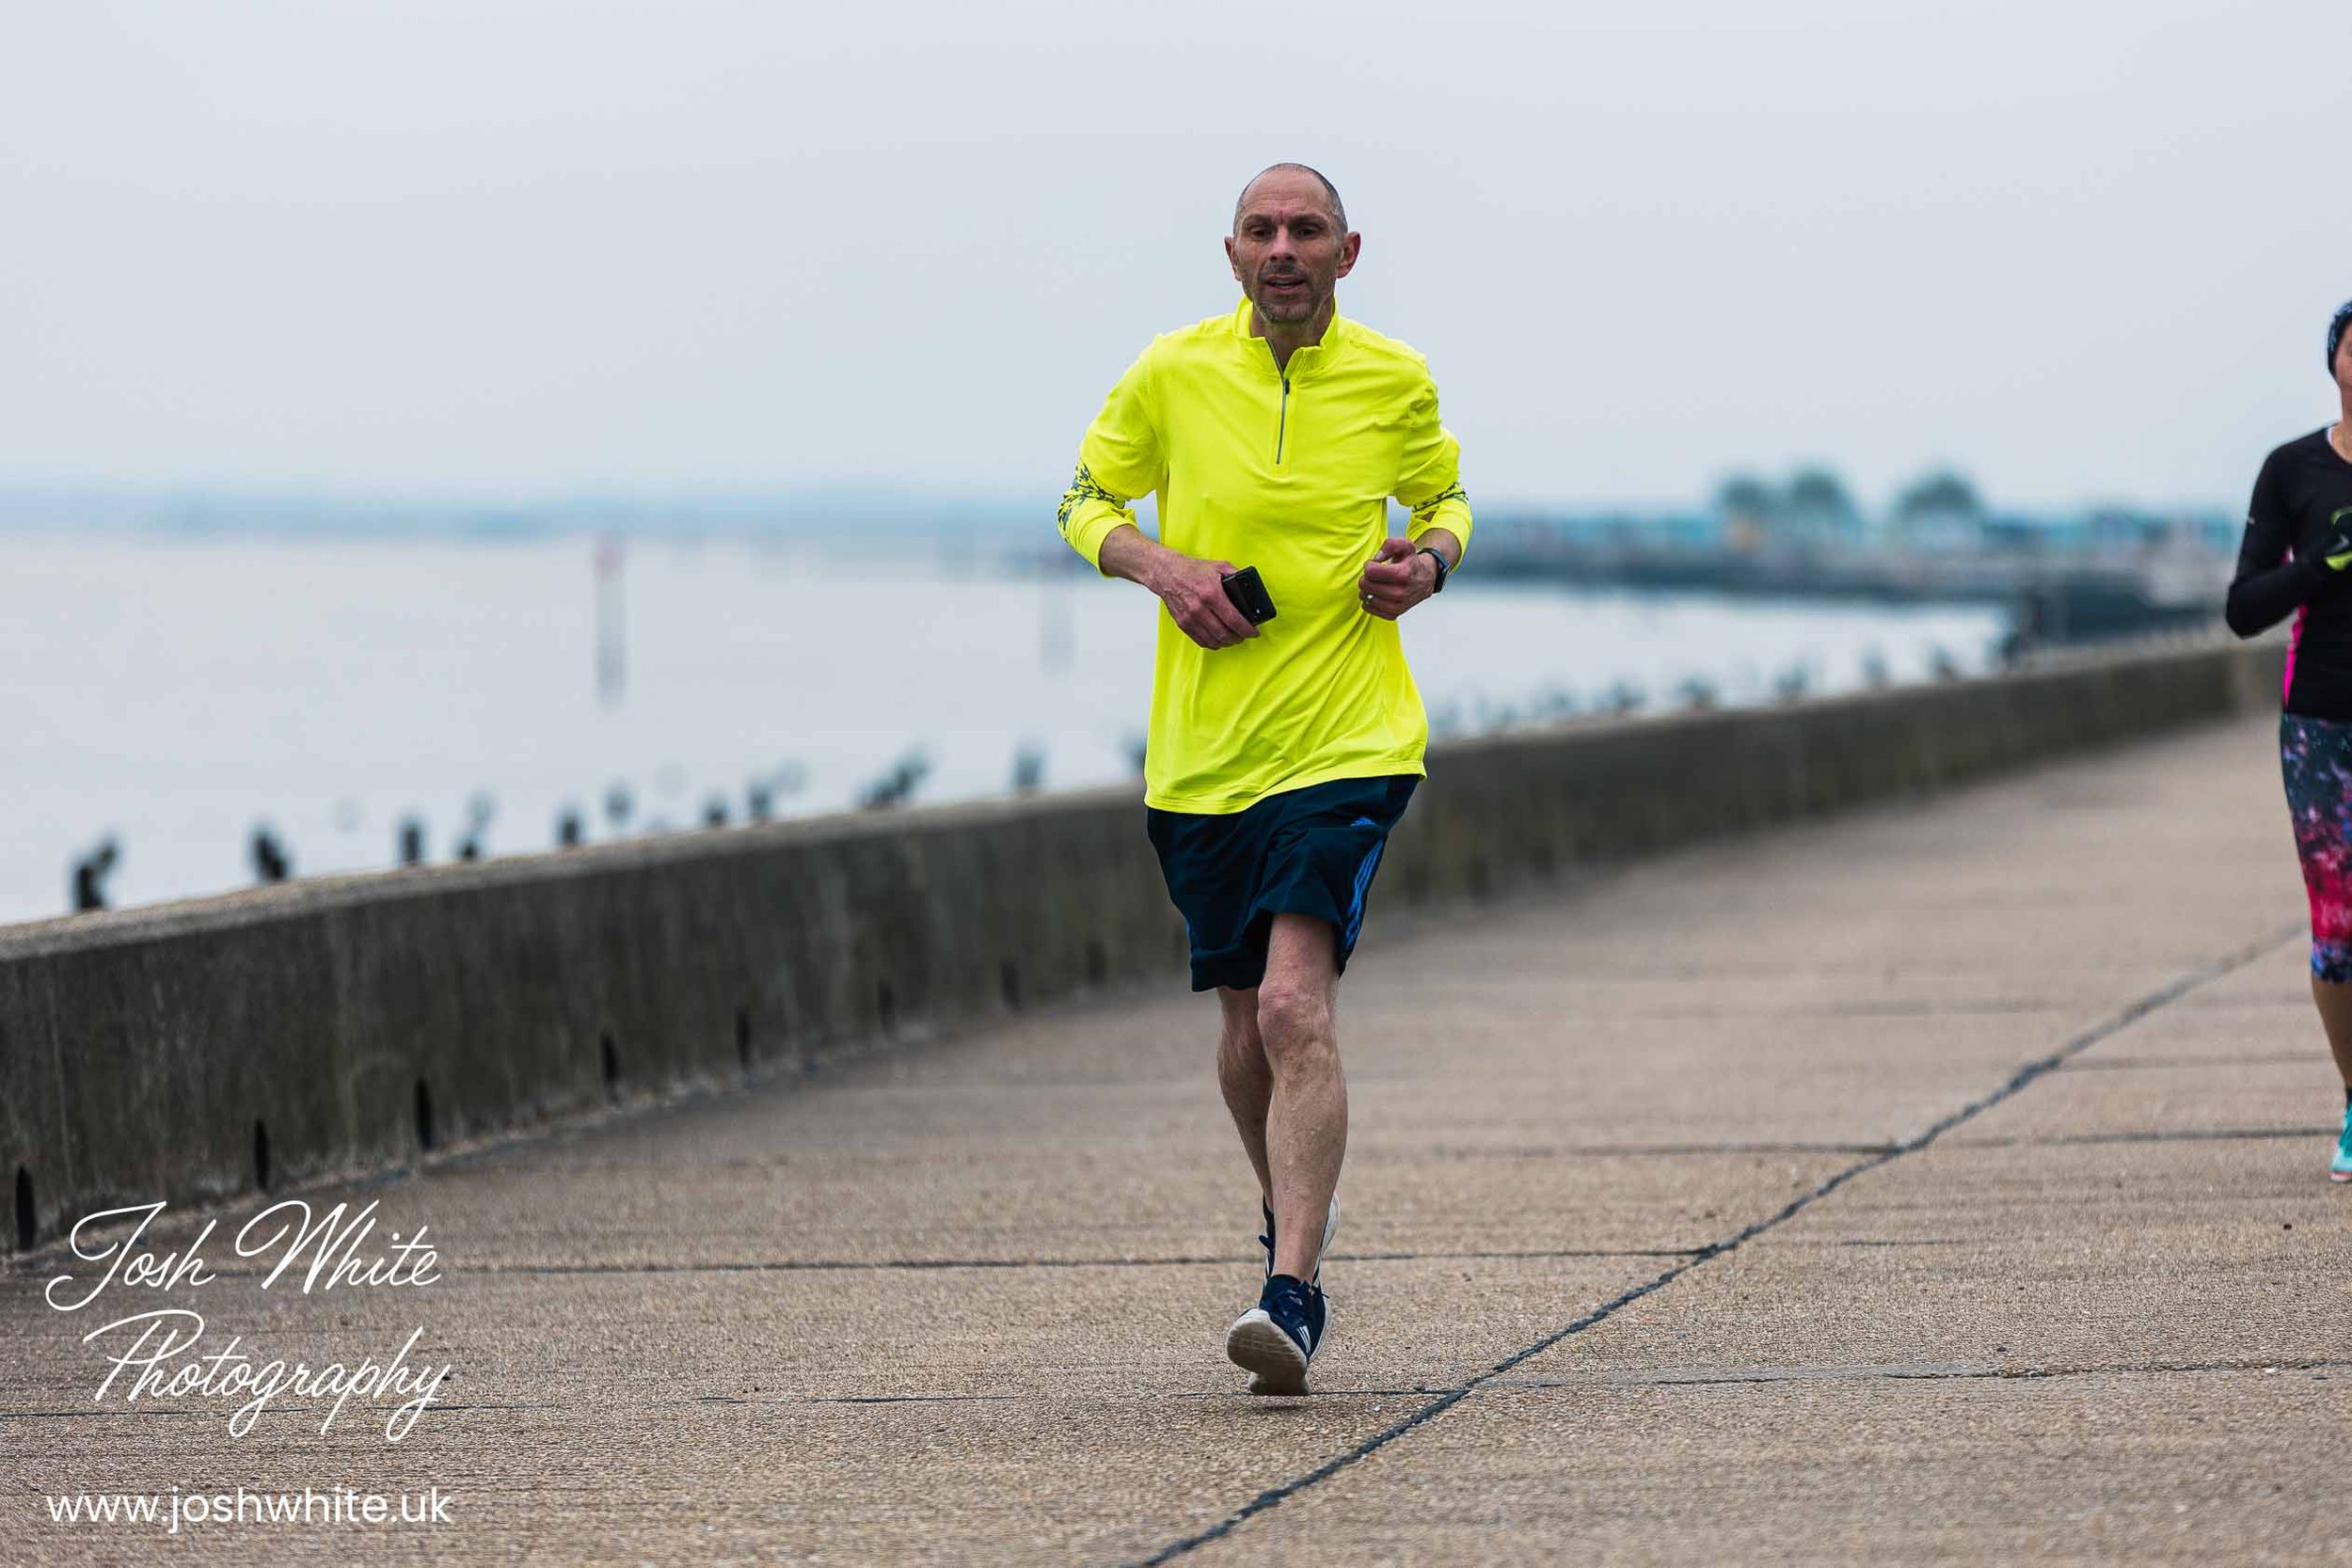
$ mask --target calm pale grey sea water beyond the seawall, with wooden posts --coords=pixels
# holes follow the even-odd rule
[[[626,679],[597,691],[595,545],[0,538],[0,922],[68,907],[68,867],[120,844],[113,905],[254,879],[268,825],[294,872],[395,858],[426,823],[449,858],[539,851],[576,809],[590,839],[840,811],[894,764],[915,799],[1134,778],[1150,599],[1127,583],[1007,576],[927,552],[818,564],[802,545],[633,543]],[[1482,588],[1406,618],[1439,729],[1590,708],[1613,689],[1771,701],[1804,670],[1839,691],[1877,663],[1980,670],[1978,609],[1783,607],[1696,595]],[[628,823],[607,816],[626,795]]]

